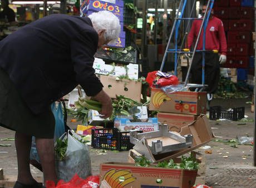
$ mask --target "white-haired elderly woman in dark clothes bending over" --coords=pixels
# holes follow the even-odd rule
[[[112,113],[110,97],[92,68],[97,48],[115,40],[119,19],[102,11],[88,18],[52,14],[0,42],[0,125],[16,131],[18,179],[14,187],[42,187],[31,175],[29,151],[36,137],[45,182],[57,181],[50,104],[78,84]]]

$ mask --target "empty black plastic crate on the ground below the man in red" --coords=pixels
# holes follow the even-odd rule
[[[210,107],[210,120],[229,119],[237,121],[244,118],[244,107],[231,108],[231,110],[223,110],[221,106]]]

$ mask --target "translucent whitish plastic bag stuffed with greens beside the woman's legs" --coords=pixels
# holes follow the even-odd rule
[[[81,139],[79,135],[69,130],[67,136],[63,138],[68,139],[66,156],[63,160],[55,161],[58,180],[70,181],[75,174],[82,179],[91,175],[91,158],[88,146],[73,136],[78,140]]]

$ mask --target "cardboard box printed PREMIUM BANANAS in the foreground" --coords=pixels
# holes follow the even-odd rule
[[[194,185],[197,170],[141,167],[125,162],[100,165],[100,187],[183,187]]]

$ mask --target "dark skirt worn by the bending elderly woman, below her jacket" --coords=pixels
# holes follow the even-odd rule
[[[36,138],[54,136],[55,118],[49,109],[33,114],[18,93],[9,75],[0,68],[0,126]]]

